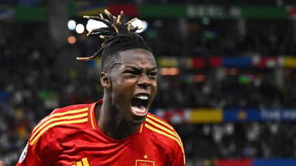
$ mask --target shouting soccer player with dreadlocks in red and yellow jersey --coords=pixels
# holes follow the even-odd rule
[[[185,165],[184,148],[174,128],[151,113],[156,96],[156,60],[147,43],[116,18],[85,16],[107,25],[90,34],[102,38],[103,99],[55,109],[41,120],[16,165]]]

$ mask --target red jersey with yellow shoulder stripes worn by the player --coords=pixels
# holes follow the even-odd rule
[[[185,165],[179,135],[151,113],[125,139],[101,132],[94,108],[102,102],[55,109],[32,130],[16,165]]]

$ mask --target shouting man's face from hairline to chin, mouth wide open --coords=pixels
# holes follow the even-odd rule
[[[112,104],[127,122],[144,122],[157,85],[156,61],[145,49],[131,49],[119,53],[120,62],[110,70]]]

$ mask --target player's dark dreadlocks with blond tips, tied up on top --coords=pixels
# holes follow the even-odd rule
[[[101,49],[90,57],[77,57],[77,60],[88,61],[101,55],[101,66],[103,70],[103,68],[109,65],[112,61],[119,59],[118,53],[120,51],[146,49],[147,51],[152,52],[145,40],[136,33],[137,30],[142,28],[132,26],[132,22],[138,18],[133,18],[125,23],[122,11],[116,18],[115,16],[112,16],[108,10],[105,10],[104,15],[84,16],[84,18],[101,21],[102,23],[105,23],[107,27],[93,29],[87,34],[87,36],[96,34],[99,35],[99,38],[103,39]]]

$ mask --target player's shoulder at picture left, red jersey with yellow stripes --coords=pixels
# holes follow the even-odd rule
[[[33,128],[29,136],[29,145],[33,146],[38,139],[48,143],[62,133],[91,128],[94,106],[95,103],[71,105],[53,110]]]

